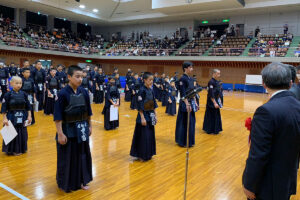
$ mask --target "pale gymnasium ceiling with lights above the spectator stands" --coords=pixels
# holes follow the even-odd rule
[[[300,0],[1,0],[0,4],[91,25],[209,20],[253,13],[300,10]],[[128,1],[128,2],[122,2]],[[187,3],[191,1],[191,3]],[[245,6],[242,5],[244,2]],[[85,5],[85,8],[80,8]],[[97,9],[98,12],[93,12]]]

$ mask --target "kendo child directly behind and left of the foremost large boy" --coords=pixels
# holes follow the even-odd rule
[[[56,75],[56,69],[50,70],[50,76],[46,78],[46,94],[45,99],[45,115],[51,115],[54,113],[54,103],[57,100],[57,94],[61,88],[59,78]]]

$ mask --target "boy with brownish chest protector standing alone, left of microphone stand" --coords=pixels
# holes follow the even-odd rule
[[[141,161],[148,161],[156,155],[155,128],[157,122],[157,103],[151,89],[153,75],[144,73],[144,85],[141,86],[138,96],[138,115],[133,134],[130,155]]]

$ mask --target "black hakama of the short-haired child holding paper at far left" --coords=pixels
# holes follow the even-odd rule
[[[22,126],[16,126],[15,129],[18,135],[7,145],[5,145],[4,141],[2,143],[2,152],[5,152],[8,155],[12,155],[14,153],[26,153],[27,151],[27,128]]]

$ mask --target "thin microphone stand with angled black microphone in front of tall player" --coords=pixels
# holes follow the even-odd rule
[[[189,90],[187,92],[187,94],[185,95],[185,97],[182,98],[182,100],[184,99],[192,99],[196,96],[196,94],[198,94],[200,91],[202,90],[201,87]],[[188,110],[188,119],[187,119],[187,131],[186,131],[186,157],[185,157],[185,177],[184,177],[184,192],[183,192],[183,199],[186,200],[186,191],[187,191],[187,176],[188,176],[188,165],[189,165],[189,137],[190,137],[190,115],[191,115],[191,111]]]

